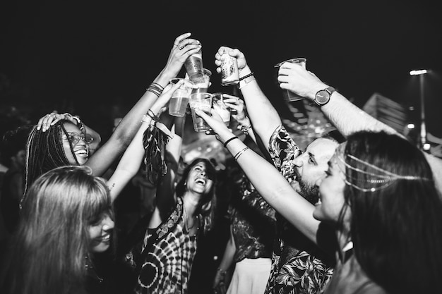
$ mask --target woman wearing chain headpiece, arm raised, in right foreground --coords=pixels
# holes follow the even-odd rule
[[[350,135],[318,180],[313,208],[217,114],[197,114],[277,212],[307,235],[318,233],[317,220],[335,228],[338,265],[324,293],[441,293],[442,202],[417,147],[383,132]]]

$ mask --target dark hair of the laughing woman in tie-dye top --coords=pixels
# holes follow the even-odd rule
[[[207,174],[208,178],[210,178],[210,180],[213,180],[212,187],[201,198],[200,209],[199,212],[197,212],[201,214],[203,231],[208,232],[213,227],[213,219],[215,216],[216,208],[215,186],[217,183],[217,179],[215,167],[213,166],[212,162],[205,158],[197,158],[193,160],[191,164],[186,166],[186,168],[184,169],[181,179],[179,180],[179,182],[177,183],[177,187],[175,188],[175,192],[177,193],[177,197],[182,197],[184,195],[184,192],[186,192],[186,180],[189,176],[189,172],[191,171],[193,166],[196,166],[196,164],[199,164],[200,162],[203,162],[205,164],[205,173]]]

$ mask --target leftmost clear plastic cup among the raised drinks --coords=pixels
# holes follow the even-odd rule
[[[170,80],[172,85],[181,83],[181,86],[175,90],[169,100],[169,114],[171,116],[182,117],[186,115],[187,104],[189,103],[189,96],[192,92],[193,82],[185,80],[184,78],[173,78]]]

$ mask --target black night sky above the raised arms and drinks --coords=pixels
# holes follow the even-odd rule
[[[213,71],[211,92],[225,90],[215,52],[235,47],[282,113],[273,65],[286,59],[306,57],[310,71],[361,107],[375,92],[418,107],[419,78],[409,72],[431,68],[427,130],[442,137],[437,1],[332,2],[4,0],[1,102],[28,107],[35,118],[72,111],[100,130],[109,115],[125,113],[141,97],[174,38],[192,32]]]

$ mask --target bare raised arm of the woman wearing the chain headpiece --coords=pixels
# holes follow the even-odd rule
[[[210,117],[198,110],[197,114],[207,121],[221,142],[234,137],[217,114]],[[229,141],[227,149],[265,201],[307,238],[317,243],[316,234],[320,222],[313,219],[313,205],[299,195],[272,164],[249,149],[241,140]]]

